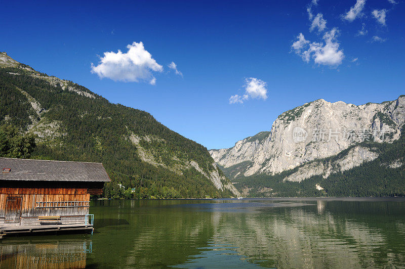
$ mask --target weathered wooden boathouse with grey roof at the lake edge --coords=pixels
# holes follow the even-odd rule
[[[93,230],[90,195],[110,182],[102,163],[0,158],[0,238]]]

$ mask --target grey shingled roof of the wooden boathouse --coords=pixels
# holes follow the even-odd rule
[[[0,180],[109,182],[110,178],[102,163],[0,158]]]

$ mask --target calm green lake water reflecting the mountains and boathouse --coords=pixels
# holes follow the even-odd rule
[[[5,238],[0,267],[405,267],[405,199],[96,201],[91,235]]]

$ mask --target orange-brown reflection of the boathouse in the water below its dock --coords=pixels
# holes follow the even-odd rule
[[[0,243],[1,268],[85,268],[91,239],[7,239]]]

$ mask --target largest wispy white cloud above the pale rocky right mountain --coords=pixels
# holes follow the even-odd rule
[[[292,49],[307,63],[312,57],[314,63],[318,65],[336,67],[342,63],[344,58],[343,51],[339,50],[339,42],[336,39],[338,34],[337,28],[326,32],[323,35],[324,44],[322,42],[310,42],[300,33],[297,36],[298,40],[293,43]]]

